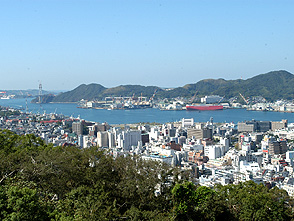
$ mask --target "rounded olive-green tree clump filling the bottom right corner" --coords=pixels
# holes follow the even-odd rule
[[[290,220],[292,209],[284,190],[269,190],[263,184],[253,181],[238,185],[217,186],[215,201],[227,205],[230,213],[241,220]]]

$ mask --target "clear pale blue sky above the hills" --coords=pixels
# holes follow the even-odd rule
[[[0,89],[294,73],[293,9],[293,0],[2,0]]]

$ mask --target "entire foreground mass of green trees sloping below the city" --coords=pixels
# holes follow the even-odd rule
[[[176,180],[177,168],[137,157],[113,159],[96,147],[53,147],[10,131],[0,131],[0,140],[1,220],[293,218],[285,191],[251,181],[211,189],[188,177]]]

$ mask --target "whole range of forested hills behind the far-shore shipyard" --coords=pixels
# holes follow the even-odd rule
[[[174,89],[162,89],[156,86],[121,85],[105,88],[100,84],[82,84],[72,91],[57,95],[52,102],[77,102],[81,99],[94,100],[107,96],[147,96],[151,97],[156,91],[156,96],[161,98],[191,97],[220,95],[225,98],[239,96],[262,96],[269,101],[277,99],[294,98],[294,75],[287,71],[272,71],[260,74],[247,80],[205,79],[195,84],[187,84]]]

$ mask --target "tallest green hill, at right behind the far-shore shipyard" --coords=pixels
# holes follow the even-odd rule
[[[239,96],[262,96],[267,100],[293,99],[294,75],[287,71],[272,71],[260,74],[247,80],[206,79],[196,84],[188,84],[183,88],[198,91],[198,95],[220,95],[225,98]],[[192,93],[193,94],[193,93]]]

